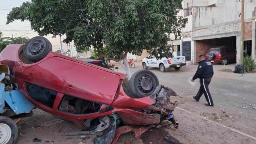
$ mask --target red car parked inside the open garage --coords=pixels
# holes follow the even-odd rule
[[[206,60],[214,64],[228,64],[236,61],[236,48],[229,46],[212,47],[206,54]]]

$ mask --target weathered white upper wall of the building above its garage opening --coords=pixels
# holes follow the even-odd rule
[[[184,8],[192,6],[193,28],[240,20],[241,0],[184,0]],[[215,5],[212,5],[214,4]],[[245,0],[244,19],[250,19],[256,0]]]

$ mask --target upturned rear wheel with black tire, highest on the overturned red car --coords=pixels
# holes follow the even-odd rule
[[[23,49],[24,56],[33,62],[39,62],[52,51],[52,44],[45,37],[33,37]]]

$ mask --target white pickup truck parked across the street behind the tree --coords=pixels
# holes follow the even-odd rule
[[[150,55],[142,60],[143,69],[148,69],[149,67],[159,68],[161,72],[165,72],[168,68],[175,68],[175,70],[180,70],[182,66],[186,65],[186,60],[184,56],[172,57],[172,58],[162,58],[158,59],[155,56]]]

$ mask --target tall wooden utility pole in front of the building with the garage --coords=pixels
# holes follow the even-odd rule
[[[241,31],[240,31],[240,61],[244,59],[244,0],[242,0],[241,6]]]

